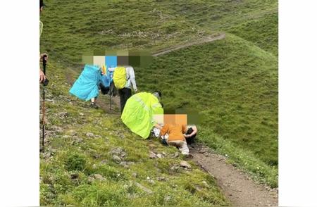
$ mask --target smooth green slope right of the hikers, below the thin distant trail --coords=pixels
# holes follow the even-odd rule
[[[159,56],[136,73],[147,77],[139,79],[140,89],[161,89],[165,108],[194,108],[201,113],[203,142],[217,148],[219,143],[211,136],[217,134],[237,151],[257,158],[253,171],[259,171],[257,163],[273,166],[270,175],[261,175],[272,182],[278,165],[277,67],[272,54],[227,35]]]

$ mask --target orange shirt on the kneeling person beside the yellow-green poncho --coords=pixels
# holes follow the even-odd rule
[[[161,135],[168,134],[168,141],[184,141],[184,133],[186,132],[186,125],[169,125],[166,124],[161,130]]]

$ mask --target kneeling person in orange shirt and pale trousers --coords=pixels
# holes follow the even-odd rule
[[[184,155],[189,155],[189,149],[187,146],[184,134],[187,132],[186,125],[170,125],[166,124],[161,128],[160,137],[168,134],[167,143],[172,146],[178,147],[180,152]]]

